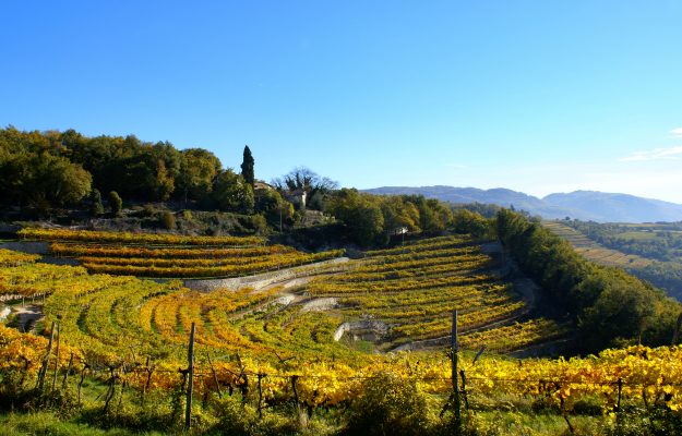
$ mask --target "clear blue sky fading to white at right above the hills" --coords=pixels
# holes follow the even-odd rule
[[[682,0],[31,1],[0,126],[202,147],[268,181],[682,203]]]

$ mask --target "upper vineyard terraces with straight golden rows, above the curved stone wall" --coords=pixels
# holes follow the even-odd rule
[[[20,237],[50,242],[50,254],[72,257],[94,274],[137,277],[238,277],[339,257],[340,250],[302,253],[264,245],[261,238],[24,229]]]

